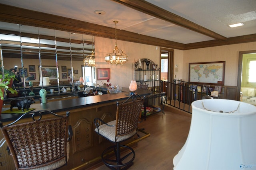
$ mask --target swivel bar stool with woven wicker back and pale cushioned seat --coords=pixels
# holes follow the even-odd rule
[[[138,118],[143,103],[144,99],[139,95],[132,95],[122,104],[117,102],[116,120],[105,123],[99,118],[94,119],[94,124],[96,126],[95,132],[116,144],[107,148],[102,153],[102,161],[110,169],[120,170],[121,168],[128,168],[133,165],[133,160],[135,158],[134,150],[131,147],[120,145],[120,142],[130,139],[137,133]],[[126,152],[127,154],[122,156],[122,158],[120,155],[120,147],[130,150],[128,153]],[[108,155],[106,153],[113,151],[113,149],[116,154],[115,158],[106,158],[106,155]],[[128,156],[130,157],[128,158]],[[127,160],[126,158],[130,160]]]

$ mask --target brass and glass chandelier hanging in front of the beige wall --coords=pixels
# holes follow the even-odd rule
[[[115,24],[118,23],[118,21],[113,21],[113,22]],[[117,64],[124,64],[128,61],[128,56],[122,50],[118,49],[117,42],[116,42],[115,49],[105,56],[105,61],[108,64],[116,64],[116,65]]]

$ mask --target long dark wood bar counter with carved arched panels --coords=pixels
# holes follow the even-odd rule
[[[152,91],[136,90],[136,93],[143,97],[144,95],[150,95]],[[116,102],[122,102],[129,96],[130,92],[127,91],[47,102],[45,104],[32,104],[30,106],[35,110],[45,109],[59,115],[64,115],[66,111],[70,111],[69,125],[72,126],[74,135],[70,141],[68,165],[60,168],[60,170],[84,170],[101,162],[100,155],[102,151],[111,146],[112,143],[94,133],[94,118],[99,117],[105,122],[114,120],[116,117]],[[4,109],[10,108],[6,107]],[[20,115],[18,113],[2,113],[0,121],[7,124],[20,117]],[[51,117],[51,115],[45,116]],[[28,120],[24,118],[20,121],[26,122]],[[6,148],[4,137],[0,133],[0,153],[5,154],[4,157],[0,157],[0,162],[4,162],[1,163],[0,170],[15,169],[12,157],[8,154]]]

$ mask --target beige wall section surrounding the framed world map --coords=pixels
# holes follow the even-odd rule
[[[188,81],[189,63],[226,61],[225,86],[237,86],[239,51],[256,49],[256,42],[224,45],[184,51],[183,80]]]

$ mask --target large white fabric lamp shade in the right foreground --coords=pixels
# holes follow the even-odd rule
[[[192,103],[190,131],[173,159],[174,170],[256,169],[255,161],[255,106],[224,99]]]

